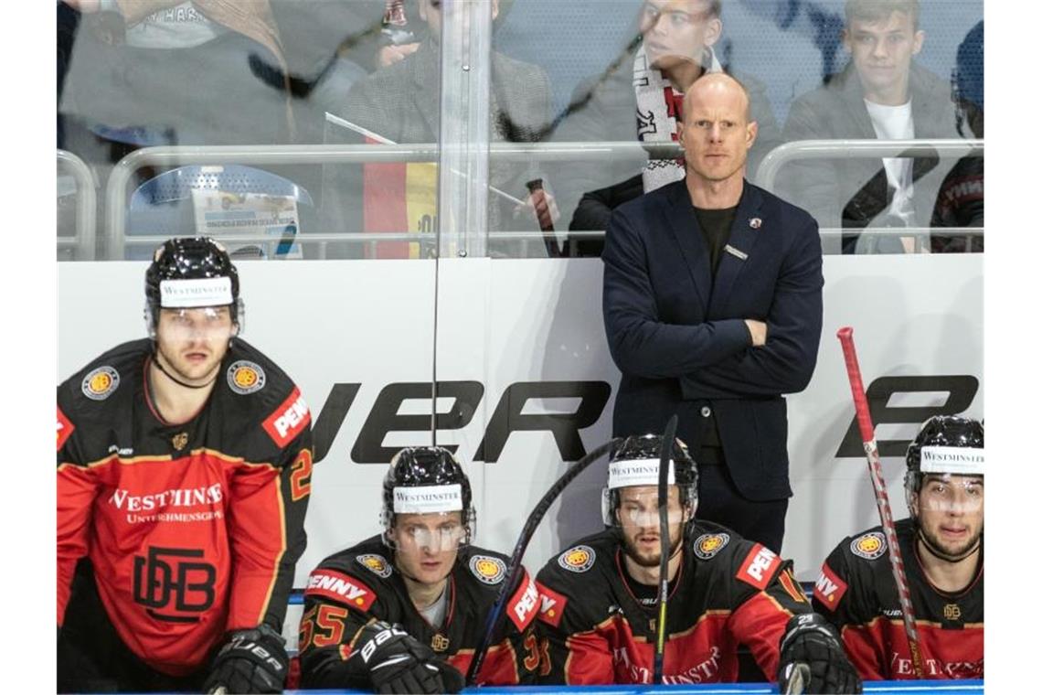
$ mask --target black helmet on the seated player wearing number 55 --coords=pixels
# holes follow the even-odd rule
[[[440,446],[406,447],[391,460],[383,476],[383,543],[395,546],[388,531],[396,514],[462,512],[465,535],[460,545],[467,545],[477,529],[472,502],[470,480],[451,451]]]

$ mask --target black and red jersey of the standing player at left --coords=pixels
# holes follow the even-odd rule
[[[57,622],[93,594],[73,581],[89,559],[93,577],[77,581],[96,585],[119,638],[179,676],[226,630],[281,630],[306,544],[311,415],[237,338],[202,409],[169,424],[151,355],[149,340],[124,343],[57,389]]]

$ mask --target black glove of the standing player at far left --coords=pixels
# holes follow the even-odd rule
[[[290,670],[286,640],[269,625],[228,635],[214,659],[203,691],[281,693]]]

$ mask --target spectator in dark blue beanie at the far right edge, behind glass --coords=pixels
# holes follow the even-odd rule
[[[961,135],[984,138],[984,20],[970,29],[951,71],[956,127]],[[967,132],[967,130],[969,132]],[[984,157],[960,159],[941,184],[932,227],[984,227]],[[931,234],[934,253],[984,251],[984,237]]]

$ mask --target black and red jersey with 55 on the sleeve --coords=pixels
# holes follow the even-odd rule
[[[303,688],[371,689],[354,641],[373,620],[398,623],[466,674],[486,630],[487,618],[506,577],[506,555],[474,546],[460,549],[446,584],[448,604],[435,627],[408,597],[391,550],[378,536],[323,560],[307,579],[300,619],[300,682]],[[535,681],[539,652],[534,630],[539,611],[536,582],[527,573],[507,599],[500,634],[493,637],[478,685]]]

